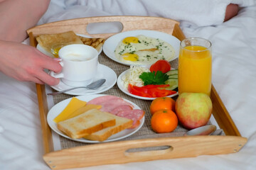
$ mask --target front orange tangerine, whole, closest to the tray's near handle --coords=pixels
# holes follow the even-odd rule
[[[178,126],[178,118],[170,109],[156,111],[151,118],[151,128],[154,132],[172,132]]]

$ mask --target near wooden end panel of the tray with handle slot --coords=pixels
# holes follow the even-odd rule
[[[63,149],[45,154],[43,159],[51,169],[70,169],[102,164],[197,157],[202,154],[228,154],[238,152],[246,142],[245,137],[235,136],[190,136],[127,140]],[[156,149],[157,147],[166,147],[166,149]],[[132,149],[135,149],[135,152],[131,152]],[[137,151],[138,149],[149,150]]]

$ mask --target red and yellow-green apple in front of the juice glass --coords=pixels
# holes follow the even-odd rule
[[[207,94],[179,94],[175,106],[179,122],[186,129],[198,128],[208,123],[213,104]]]

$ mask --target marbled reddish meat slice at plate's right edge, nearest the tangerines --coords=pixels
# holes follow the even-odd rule
[[[131,128],[136,128],[139,125],[139,120],[143,118],[144,114],[145,112],[140,109],[133,109],[130,111],[119,111],[119,113],[117,113],[117,115],[122,118],[132,119],[133,123]]]

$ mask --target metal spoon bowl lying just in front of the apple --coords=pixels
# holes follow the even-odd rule
[[[184,136],[210,135],[213,132],[215,132],[215,130],[216,130],[215,125],[205,125],[205,126],[201,126],[199,128],[195,128],[193,130],[188,130],[188,132],[186,132],[184,134]]]

